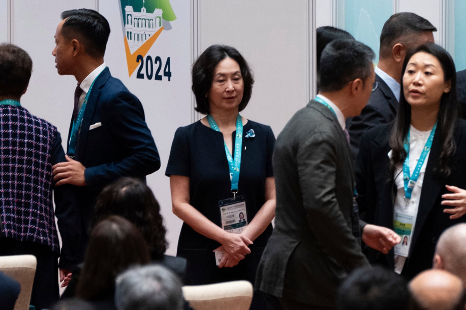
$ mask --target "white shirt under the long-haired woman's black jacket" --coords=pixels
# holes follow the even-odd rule
[[[410,126],[410,149],[409,149],[409,171],[412,175],[416,165],[418,164],[419,157],[424,149],[425,143],[429,138],[431,131],[420,132],[412,125]],[[395,204],[393,206],[393,213],[401,213],[413,217],[413,225],[411,229],[411,236],[409,237],[409,244],[411,251],[411,237],[413,236],[414,230],[416,229],[416,218],[418,216],[419,199],[421,198],[422,183],[424,181],[425,167],[429,159],[430,151],[427,153],[425,161],[421,167],[418,181],[414,186],[411,193],[411,200],[406,203],[404,201],[404,180],[403,180],[403,165],[398,165],[395,169],[395,185],[397,186],[397,195],[395,198]],[[391,151],[388,153],[391,158]],[[410,175],[410,177],[411,177]],[[406,257],[395,255],[395,272],[400,274],[403,270]]]

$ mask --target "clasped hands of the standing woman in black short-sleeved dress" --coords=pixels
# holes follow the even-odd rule
[[[219,268],[236,266],[241,259],[251,253],[251,249],[248,246],[253,244],[253,242],[242,234],[227,233],[225,240],[221,244],[217,249],[213,250],[225,251]]]

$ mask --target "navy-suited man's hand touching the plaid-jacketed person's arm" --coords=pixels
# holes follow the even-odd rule
[[[63,184],[71,184],[77,186],[85,186],[86,179],[84,178],[84,167],[79,161],[71,159],[65,155],[66,161],[52,166],[52,174],[56,186]]]

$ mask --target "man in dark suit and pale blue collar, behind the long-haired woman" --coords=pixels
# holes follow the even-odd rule
[[[351,120],[349,127],[354,158],[359,152],[359,142],[365,130],[395,119],[404,55],[413,47],[433,42],[433,31],[437,31],[437,28],[415,13],[396,13],[385,22],[380,34],[379,62],[375,68],[377,88],[361,114]]]

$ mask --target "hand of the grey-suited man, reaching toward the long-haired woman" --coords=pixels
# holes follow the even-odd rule
[[[396,244],[399,244],[401,237],[389,228],[367,224],[363,229],[363,242],[384,254],[387,254]]]

